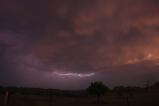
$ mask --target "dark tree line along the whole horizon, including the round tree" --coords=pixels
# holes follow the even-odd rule
[[[120,97],[126,97],[127,102],[128,97],[133,96],[135,93],[142,92],[158,92],[159,93],[159,82],[151,86],[145,87],[133,87],[133,86],[116,86],[110,89],[101,81],[92,82],[85,90],[59,90],[59,89],[41,89],[41,88],[25,88],[25,87],[2,87],[0,86],[0,94],[5,95],[56,95],[56,96],[94,96],[96,97],[96,102],[101,103],[101,97],[108,93],[114,93]]]

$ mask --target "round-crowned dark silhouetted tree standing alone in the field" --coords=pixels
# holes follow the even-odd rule
[[[95,95],[97,103],[100,103],[101,95],[104,95],[109,89],[102,82],[93,82],[86,90],[89,94]]]

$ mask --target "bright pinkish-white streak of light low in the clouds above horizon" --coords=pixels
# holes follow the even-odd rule
[[[58,76],[66,76],[66,77],[92,77],[95,75],[95,73],[88,73],[88,74],[81,74],[81,73],[62,73],[62,72],[53,72],[53,74],[56,74]]]

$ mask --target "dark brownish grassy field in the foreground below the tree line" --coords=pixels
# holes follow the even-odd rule
[[[159,106],[158,93],[138,93],[131,96],[119,96],[109,93],[100,104],[91,96],[37,96],[10,95],[7,106]],[[4,95],[0,95],[0,106],[4,106]]]

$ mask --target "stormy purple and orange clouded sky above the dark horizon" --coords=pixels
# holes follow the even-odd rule
[[[0,85],[159,81],[158,0],[0,0]]]

